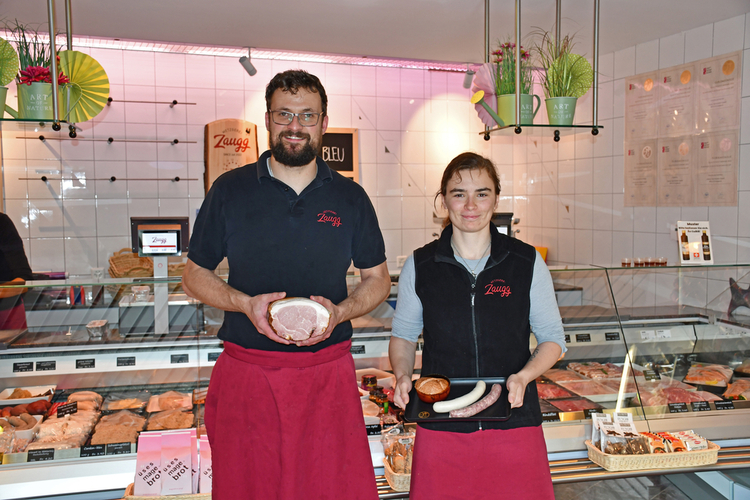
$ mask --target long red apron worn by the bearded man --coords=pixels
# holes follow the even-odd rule
[[[224,343],[206,399],[214,500],[378,498],[350,348]]]

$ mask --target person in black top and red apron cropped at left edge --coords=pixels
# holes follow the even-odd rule
[[[31,279],[31,268],[23,251],[23,240],[10,217],[0,212],[0,330],[26,328],[26,309],[21,294],[26,288],[15,288]]]

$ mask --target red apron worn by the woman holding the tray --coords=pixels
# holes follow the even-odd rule
[[[463,434],[419,427],[411,500],[554,500],[539,427]]]

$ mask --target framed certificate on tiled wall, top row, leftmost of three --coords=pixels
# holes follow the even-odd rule
[[[625,140],[656,137],[658,91],[656,72],[625,80]]]

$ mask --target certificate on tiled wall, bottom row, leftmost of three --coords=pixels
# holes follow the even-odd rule
[[[625,144],[626,207],[656,205],[656,140]]]

